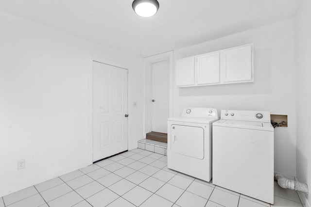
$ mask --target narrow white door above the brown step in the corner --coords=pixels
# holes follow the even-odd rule
[[[167,133],[169,118],[169,60],[152,64],[152,131]]]

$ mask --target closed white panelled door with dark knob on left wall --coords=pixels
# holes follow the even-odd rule
[[[127,150],[127,70],[93,62],[93,161]]]

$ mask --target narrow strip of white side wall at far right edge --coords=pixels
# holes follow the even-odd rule
[[[295,18],[297,179],[311,188],[311,1],[302,0]],[[311,193],[308,196],[311,203]]]

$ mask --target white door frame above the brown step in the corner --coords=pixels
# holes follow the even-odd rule
[[[144,138],[152,129],[152,64],[169,61],[169,117],[173,117],[173,51],[168,51],[144,58]]]

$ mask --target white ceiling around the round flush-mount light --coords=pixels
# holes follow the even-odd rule
[[[300,0],[158,0],[137,16],[133,0],[0,0],[0,10],[142,57],[291,18]]]

